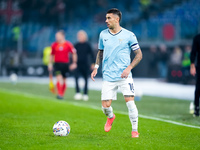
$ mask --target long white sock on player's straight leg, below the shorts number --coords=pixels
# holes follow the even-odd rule
[[[138,130],[138,110],[135,105],[134,101],[128,101],[126,103],[128,107],[128,114],[129,114],[129,119],[132,124],[132,131],[137,131]]]

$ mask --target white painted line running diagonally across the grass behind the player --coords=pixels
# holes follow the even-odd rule
[[[2,89],[0,88],[3,92],[7,92],[9,94],[23,94],[23,96],[26,96],[26,97],[38,97],[38,98],[42,98],[42,99],[50,99],[49,97],[46,97],[46,96],[36,96],[36,95],[33,95],[33,94],[30,94],[30,93],[23,93],[23,92],[19,92],[19,91],[10,91],[10,90],[5,90],[5,89]],[[51,100],[54,100],[53,98],[51,98]],[[61,101],[59,101],[61,102]],[[94,109],[94,110],[101,110],[100,107],[97,107],[97,106],[92,106],[92,105],[84,105],[84,104],[80,104],[78,102],[69,102],[68,103],[74,105],[74,106],[79,106],[79,107],[85,107],[85,108],[91,108],[91,109]],[[116,111],[116,113],[118,114],[122,114],[122,115],[128,115],[128,112],[123,112],[123,111]],[[170,123],[170,124],[174,124],[174,125],[178,125],[178,126],[184,126],[184,127],[189,127],[189,128],[196,128],[196,129],[200,129],[200,126],[194,126],[194,125],[188,125],[188,124],[184,124],[184,123],[180,123],[180,122],[176,122],[176,121],[172,121],[172,120],[166,120],[166,119],[162,119],[162,118],[156,118],[156,117],[151,117],[151,116],[146,116],[146,115],[141,115],[139,114],[139,117],[140,118],[144,118],[144,119],[150,119],[150,120],[156,120],[156,121],[161,121],[161,122],[166,122],[166,123]]]

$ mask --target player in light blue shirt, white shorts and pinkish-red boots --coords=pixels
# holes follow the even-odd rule
[[[91,74],[97,74],[102,61],[103,85],[102,85],[102,110],[108,117],[104,130],[109,132],[115,120],[115,114],[111,106],[112,100],[117,99],[117,89],[120,88],[128,107],[129,118],[132,124],[132,137],[139,137],[138,110],[134,102],[134,83],[131,70],[141,61],[142,52],[134,33],[122,28],[120,20],[122,13],[116,9],[110,9],[106,14],[108,29],[100,33],[95,69]],[[135,58],[131,62],[131,50]],[[103,59],[103,60],[102,60]]]

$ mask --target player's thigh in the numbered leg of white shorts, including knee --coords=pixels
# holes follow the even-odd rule
[[[127,78],[119,82],[119,88],[127,100],[133,100],[135,96],[134,82],[132,78]],[[125,100],[126,100],[125,99]]]

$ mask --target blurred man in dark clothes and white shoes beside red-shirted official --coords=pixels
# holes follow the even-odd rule
[[[78,40],[78,43],[76,43],[74,46],[75,49],[77,50],[77,56],[78,56],[77,69],[75,70],[76,94],[74,95],[74,99],[75,100],[83,99],[84,101],[87,101],[89,99],[88,74],[90,72],[90,69],[91,70],[94,69],[93,62],[95,58],[94,58],[92,48],[88,42],[87,33],[84,30],[80,30],[77,33],[77,40]],[[82,76],[85,81],[83,95],[81,94],[79,82],[78,82],[80,76]]]

